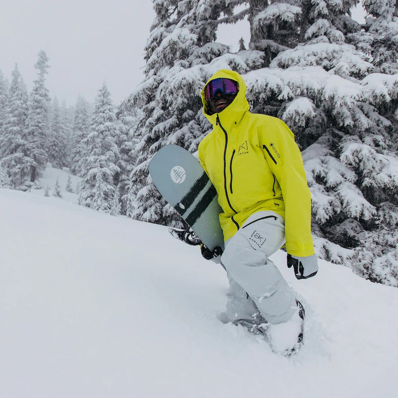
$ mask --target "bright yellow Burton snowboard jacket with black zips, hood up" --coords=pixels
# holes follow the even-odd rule
[[[251,214],[272,210],[285,218],[288,253],[314,254],[311,194],[292,131],[276,117],[249,112],[246,85],[238,73],[223,69],[209,81],[217,78],[239,83],[232,103],[212,115],[201,92],[203,113],[213,130],[199,144],[199,160],[218,194],[224,239]]]

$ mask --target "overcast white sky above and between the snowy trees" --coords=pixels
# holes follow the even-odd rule
[[[143,79],[144,46],[154,17],[150,0],[7,1],[0,12],[0,70],[10,81],[17,63],[30,91],[37,53],[44,50],[51,97],[74,105],[81,94],[92,102],[106,81],[118,104]],[[247,44],[247,21],[232,29],[222,25],[218,40],[237,46],[241,36]]]

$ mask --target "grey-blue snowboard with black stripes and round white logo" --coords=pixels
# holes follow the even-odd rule
[[[210,249],[224,250],[217,193],[199,161],[178,145],[166,145],[152,158],[149,174],[155,187]]]

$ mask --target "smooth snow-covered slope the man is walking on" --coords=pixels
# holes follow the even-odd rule
[[[0,190],[0,397],[396,397],[398,290],[320,261],[305,345],[217,319],[220,266],[167,228]]]

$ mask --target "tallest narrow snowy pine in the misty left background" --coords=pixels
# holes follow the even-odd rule
[[[45,87],[45,80],[49,64],[47,55],[43,50],[39,51],[38,61],[34,67],[37,70],[37,79],[33,82],[33,90],[30,95],[26,136],[31,182],[35,182],[41,176],[48,159],[45,148],[50,96]]]

